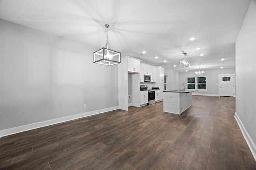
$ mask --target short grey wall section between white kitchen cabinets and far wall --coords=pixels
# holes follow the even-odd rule
[[[176,90],[179,88],[180,77],[178,72],[164,68],[164,75],[168,76],[167,90]]]

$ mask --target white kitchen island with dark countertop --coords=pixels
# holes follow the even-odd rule
[[[164,93],[164,111],[180,114],[192,106],[192,92],[197,90],[166,90]]]

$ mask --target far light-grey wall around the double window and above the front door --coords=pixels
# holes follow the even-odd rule
[[[202,69],[203,70],[203,69]],[[217,69],[217,70],[204,70],[204,75],[206,76],[206,91],[196,91],[193,94],[203,94],[203,95],[219,95],[219,82],[218,74],[234,74],[235,68]],[[187,77],[197,77],[194,71],[191,72],[180,72],[180,82],[179,88],[182,87],[182,83],[187,84]],[[187,86],[185,86],[187,88]]]

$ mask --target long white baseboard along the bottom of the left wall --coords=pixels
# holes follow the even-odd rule
[[[57,118],[57,119],[42,121],[42,122],[38,122],[38,123],[32,123],[32,124],[29,124],[29,125],[23,125],[23,126],[19,126],[19,127],[13,127],[13,128],[10,128],[10,129],[4,129],[4,130],[0,131],[0,138],[4,137],[4,136],[15,134],[15,133],[20,133],[20,132],[29,131],[29,130],[32,130],[32,129],[37,129],[37,128],[40,128],[40,127],[45,127],[45,126],[54,125],[54,124],[57,124],[57,123],[62,123],[64,121],[70,121],[70,120],[79,119],[79,118],[82,118],[82,117],[87,117],[87,116],[91,116],[91,115],[104,113],[104,112],[107,112],[107,111],[116,110],[118,108],[119,108],[118,106],[109,107],[109,108],[106,108],[106,109],[89,111],[89,112],[86,112],[86,113],[80,113],[80,114],[76,114],[76,115],[60,117],[60,118]]]

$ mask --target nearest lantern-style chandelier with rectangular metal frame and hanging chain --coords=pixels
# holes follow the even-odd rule
[[[102,49],[99,49],[93,53],[93,63],[104,64],[108,66],[119,64],[121,63],[121,53],[110,49],[108,45],[108,28],[110,26],[105,24],[105,27],[107,28],[106,45]]]

